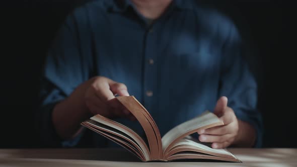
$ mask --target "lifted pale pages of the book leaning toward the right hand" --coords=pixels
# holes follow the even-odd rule
[[[162,137],[164,154],[166,154],[168,147],[175,141],[178,141],[189,134],[197,132],[200,129],[206,129],[219,125],[224,125],[224,123],[216,115],[206,111],[198,117],[174,127]]]

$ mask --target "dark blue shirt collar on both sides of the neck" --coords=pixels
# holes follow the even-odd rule
[[[111,10],[113,12],[125,12],[129,7],[133,8],[133,4],[129,0],[108,0],[111,3]],[[171,8],[181,10],[193,9],[194,2],[192,0],[173,0]]]

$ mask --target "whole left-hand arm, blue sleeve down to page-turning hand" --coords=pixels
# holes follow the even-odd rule
[[[80,123],[95,114],[133,120],[127,111],[114,110],[117,103],[111,101],[114,94],[128,96],[126,86],[102,76],[91,78],[91,55],[80,50],[91,40],[79,40],[77,20],[67,18],[46,57],[36,118],[43,145],[76,145]]]

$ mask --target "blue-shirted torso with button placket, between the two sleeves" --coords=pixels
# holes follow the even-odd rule
[[[132,7],[105,10],[102,4],[82,9],[88,25],[78,25],[81,53],[92,55],[93,75],[125,84],[151,113],[161,136],[214,108],[224,40],[202,11],[172,7],[148,25]],[[143,134],[138,124],[117,121]]]

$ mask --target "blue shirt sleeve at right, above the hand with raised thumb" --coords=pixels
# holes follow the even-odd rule
[[[243,57],[243,44],[234,25],[222,48],[219,96],[228,97],[236,116],[256,130],[254,147],[262,145],[262,117],[257,110],[257,83]]]

